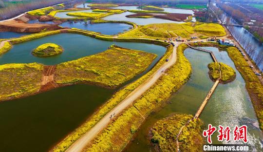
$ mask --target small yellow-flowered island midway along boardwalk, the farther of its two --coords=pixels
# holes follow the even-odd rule
[[[223,83],[231,82],[236,78],[236,72],[235,70],[226,65],[225,63],[221,62],[212,62],[208,64],[209,68],[209,76],[212,78],[212,80],[217,80],[220,78],[220,71],[221,71],[221,81]]]

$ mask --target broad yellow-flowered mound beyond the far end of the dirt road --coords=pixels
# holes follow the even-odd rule
[[[215,23],[196,23],[192,26],[192,23],[161,23],[161,24],[149,24],[140,26],[138,29],[127,32],[120,37],[157,37],[157,38],[172,38],[182,37],[189,38],[192,34],[205,35],[205,36],[225,36],[225,29]]]

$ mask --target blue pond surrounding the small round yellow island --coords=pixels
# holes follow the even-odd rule
[[[64,48],[64,52],[53,57],[33,56],[31,54],[32,50],[44,43],[56,43]],[[124,48],[142,50],[157,54],[158,57],[154,60],[154,62],[156,62],[166,51],[165,47],[154,44],[104,41],[79,34],[63,33],[13,45],[13,48],[10,51],[0,56],[0,65],[6,63],[32,62],[54,65],[80,57],[94,55],[107,50],[107,48],[113,44]]]

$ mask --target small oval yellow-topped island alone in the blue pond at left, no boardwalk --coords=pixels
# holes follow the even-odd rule
[[[37,57],[50,57],[55,56],[63,52],[63,48],[54,43],[45,43],[38,46],[32,51],[32,55]]]

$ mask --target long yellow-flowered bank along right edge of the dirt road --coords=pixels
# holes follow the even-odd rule
[[[144,117],[158,110],[173,92],[187,82],[191,65],[183,54],[186,48],[185,44],[178,47],[176,64],[166,71],[168,75],[161,76],[149,91],[118,115],[85,148],[85,152],[119,152],[126,146],[143,123]]]

